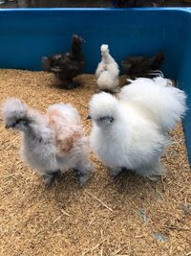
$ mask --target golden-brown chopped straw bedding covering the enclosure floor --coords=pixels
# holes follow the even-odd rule
[[[44,72],[0,71],[0,102],[19,97],[45,110],[54,103],[78,108],[88,133],[88,102],[96,91],[93,75],[67,91],[53,87]],[[0,124],[0,255],[190,255],[191,173],[182,128],[163,162],[166,178],[157,183],[137,175],[117,179],[99,163],[84,188],[74,172],[51,189],[18,155],[20,136]],[[159,241],[160,240],[160,241]]]

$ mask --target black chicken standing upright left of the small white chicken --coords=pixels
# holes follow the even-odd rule
[[[61,86],[65,89],[73,89],[79,85],[73,79],[81,74],[84,69],[85,58],[82,53],[82,43],[84,42],[84,39],[79,35],[73,35],[69,53],[42,58],[44,69],[52,72],[61,81]]]

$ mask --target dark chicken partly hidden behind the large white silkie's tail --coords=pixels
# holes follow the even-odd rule
[[[130,57],[122,61],[122,68],[131,79],[154,78],[159,76],[159,69],[164,61],[164,54],[159,52],[155,57]]]

